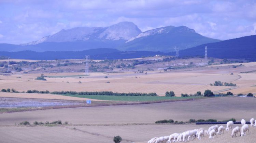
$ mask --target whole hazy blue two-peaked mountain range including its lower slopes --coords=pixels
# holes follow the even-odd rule
[[[167,26],[141,32],[132,22],[119,22],[109,27],[61,30],[38,41],[20,45],[0,44],[0,51],[82,51],[115,48],[121,51],[171,52],[175,46],[186,49],[219,41],[202,36],[185,26]]]

